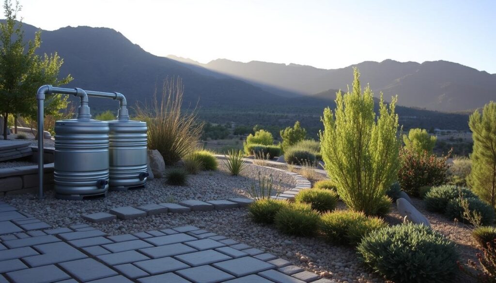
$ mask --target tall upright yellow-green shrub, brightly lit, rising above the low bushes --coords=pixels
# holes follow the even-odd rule
[[[377,117],[370,86],[362,92],[356,68],[354,77],[351,92],[336,94],[334,113],[324,110],[320,146],[325,169],[346,205],[375,215],[381,212],[399,168],[397,98],[388,108],[381,94]]]

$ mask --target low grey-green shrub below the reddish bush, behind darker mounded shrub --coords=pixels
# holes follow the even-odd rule
[[[460,197],[460,192],[464,198],[475,197],[475,195],[465,187],[453,185],[433,187],[424,197],[427,210],[443,213],[450,200]]]

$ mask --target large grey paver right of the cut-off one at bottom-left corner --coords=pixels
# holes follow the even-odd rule
[[[82,282],[118,275],[114,270],[91,258],[62,262],[59,265]]]

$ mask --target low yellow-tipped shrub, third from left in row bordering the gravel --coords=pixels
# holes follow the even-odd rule
[[[350,226],[366,221],[367,217],[361,212],[351,210],[336,210],[323,214],[320,218],[319,230],[327,241],[335,244],[348,243]]]

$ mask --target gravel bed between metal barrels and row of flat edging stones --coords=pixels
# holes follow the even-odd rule
[[[274,183],[281,190],[289,190],[296,184],[293,176],[270,168],[249,165],[240,176],[231,176],[220,162],[219,170],[203,171],[188,175],[187,186],[171,186],[164,178],[147,182],[147,187],[128,191],[109,191],[106,198],[73,201],[55,198],[53,190],[46,192],[43,200],[34,194],[4,196],[3,200],[22,212],[54,227],[64,227],[81,221],[82,214],[105,212],[121,206],[140,206],[149,203],[179,202],[186,199],[217,200],[232,197],[248,197],[245,189],[258,183],[261,175],[272,174]],[[1,198],[0,198],[1,199]]]

